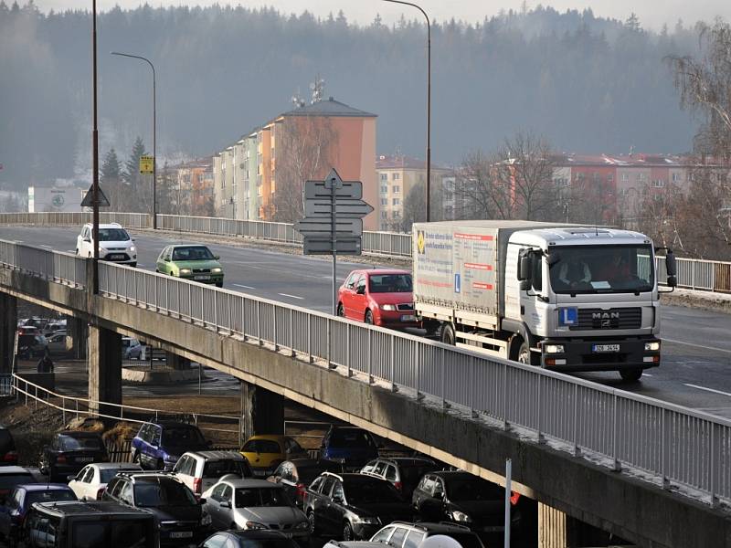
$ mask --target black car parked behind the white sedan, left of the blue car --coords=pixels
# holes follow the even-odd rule
[[[66,480],[91,462],[107,462],[107,448],[96,432],[58,432],[51,444],[43,448],[38,468],[48,480]]]

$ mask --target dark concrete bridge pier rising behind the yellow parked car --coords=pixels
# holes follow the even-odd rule
[[[284,434],[284,396],[241,381],[241,439]]]

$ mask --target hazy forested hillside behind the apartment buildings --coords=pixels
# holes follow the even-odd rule
[[[345,6],[344,6],[345,8]],[[426,29],[354,26],[241,7],[113,9],[99,16],[101,154],[152,144],[149,67],[157,72],[158,154],[213,153],[291,108],[325,80],[334,96],[378,115],[377,149],[423,157]],[[0,2],[0,183],[25,187],[88,173],[90,14],[44,14]],[[535,8],[480,24],[432,26],[433,159],[460,163],[517,130],[558,150],[683,152],[695,123],[678,106],[663,58],[694,53],[679,22],[660,33],[641,21]]]

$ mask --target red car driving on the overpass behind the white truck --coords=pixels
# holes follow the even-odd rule
[[[382,327],[418,327],[408,270],[354,270],[337,292],[337,315]]]

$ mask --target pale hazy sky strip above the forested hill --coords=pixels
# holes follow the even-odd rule
[[[10,4],[10,0],[5,0]],[[91,1],[80,0],[35,0],[36,5],[43,11],[53,8],[62,10],[66,8],[90,8]],[[150,0],[148,3],[158,5],[210,5],[217,0],[194,0],[191,2],[181,0]],[[26,0],[18,0],[18,4],[25,4]],[[218,1],[219,4],[227,4],[226,0]],[[143,4],[140,0],[98,0],[97,9],[105,10],[119,4],[122,7],[131,8]],[[401,13],[407,16],[419,16],[413,8],[401,5],[387,5],[382,0],[241,0],[230,4],[241,4],[250,7],[261,5],[272,5],[281,12],[302,13],[306,8],[315,15],[327,16],[328,13],[337,13],[339,9],[344,11],[350,21],[359,23],[370,23],[379,13],[385,21],[397,19]],[[432,19],[445,20],[455,17],[466,21],[482,21],[484,16],[492,16],[501,9],[519,10],[523,4],[522,0],[420,0],[421,5]],[[595,15],[626,19],[632,11],[639,17],[642,26],[660,28],[663,23],[673,26],[680,18],[686,25],[692,24],[699,19],[709,21],[715,16],[723,16],[726,20],[731,19],[731,0],[550,0],[543,2],[527,2],[528,7],[538,4],[552,5],[559,11],[571,9],[584,9],[591,7]]]

